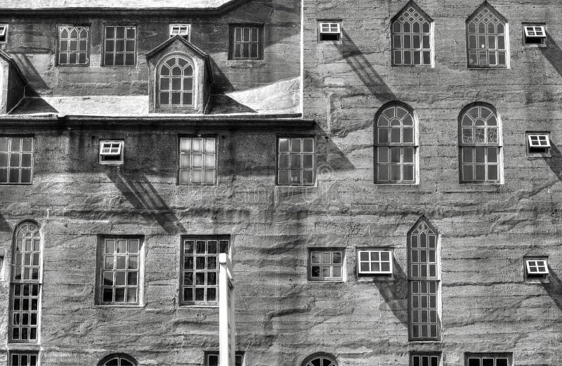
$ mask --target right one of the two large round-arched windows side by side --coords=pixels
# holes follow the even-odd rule
[[[500,183],[501,123],[491,105],[466,107],[459,117],[460,180]]]

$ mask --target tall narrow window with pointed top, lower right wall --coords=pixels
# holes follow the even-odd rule
[[[439,258],[438,235],[424,218],[408,235],[410,339],[438,340]]]

